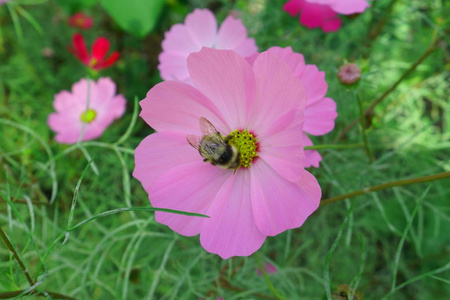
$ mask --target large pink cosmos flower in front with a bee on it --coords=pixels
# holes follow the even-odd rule
[[[182,235],[200,234],[202,246],[222,258],[250,255],[267,236],[301,226],[319,205],[320,186],[304,169],[305,90],[267,52],[250,66],[234,51],[203,48],[189,56],[188,68],[195,87],[162,82],[141,101],[141,117],[157,133],[136,148],[133,175],[154,207],[209,216],[156,212],[156,221]],[[201,118],[233,136],[240,161],[250,165],[233,170],[204,162],[187,142],[202,135]]]

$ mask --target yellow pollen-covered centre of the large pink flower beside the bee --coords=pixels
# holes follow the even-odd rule
[[[231,145],[236,147],[239,153],[239,166],[248,168],[252,161],[258,156],[256,152],[258,144],[255,136],[247,131],[234,130],[225,138]]]

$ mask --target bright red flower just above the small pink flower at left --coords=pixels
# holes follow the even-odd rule
[[[105,69],[113,65],[119,59],[119,52],[114,51],[108,58],[105,59],[108,53],[110,44],[107,38],[99,37],[95,40],[92,46],[92,54],[89,54],[86,48],[86,43],[81,34],[75,33],[72,39],[72,46],[69,46],[69,51],[75,55],[83,64],[93,70]]]

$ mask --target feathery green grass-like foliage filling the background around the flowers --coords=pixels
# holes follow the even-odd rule
[[[65,13],[56,1],[23,5],[26,15],[0,7],[0,227],[37,284],[32,290],[76,299],[274,297],[257,275],[254,256],[222,260],[205,252],[198,237],[177,235],[145,209],[96,217],[149,207],[131,176],[132,151],[152,133],[140,118],[129,126],[137,112],[134,99],[159,82],[157,55],[172,24],[195,7],[214,8],[220,20],[237,9],[260,50],[292,46],[326,72],[339,117],[333,132],[313,140],[333,144],[359,115],[354,90],[336,77],[338,67],[345,60],[361,65],[357,91],[368,107],[449,26],[446,1],[396,1],[379,35],[369,40],[390,2],[377,0],[357,18],[344,18],[339,32],[324,34],[300,26],[281,10],[282,0],[171,1],[143,40],[121,32],[93,6],[88,12],[96,25],[84,35],[89,42],[105,35],[122,52],[103,75],[115,80],[128,110],[82,148],[57,144],[46,125],[54,94],[85,75],[66,50],[74,30],[66,26]],[[43,57],[44,47],[55,55]],[[441,42],[377,106],[367,128],[375,162],[363,147],[321,150],[321,167],[312,173],[324,199],[450,171],[449,63],[448,45]],[[358,125],[339,143],[362,141]],[[327,299],[339,284],[357,287],[364,299],[449,298],[449,184],[444,179],[394,187],[320,207],[301,228],[268,238],[258,251],[278,268],[268,279],[286,299]],[[29,289],[17,260],[0,245],[0,294]]]

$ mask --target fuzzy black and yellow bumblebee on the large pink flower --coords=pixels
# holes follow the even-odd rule
[[[188,143],[198,150],[203,161],[223,169],[237,170],[239,168],[239,152],[224,138],[206,118],[199,120],[202,136],[188,135]]]

